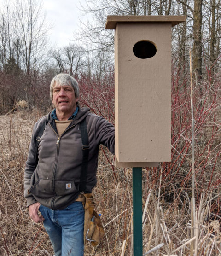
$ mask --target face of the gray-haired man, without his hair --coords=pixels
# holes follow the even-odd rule
[[[56,84],[53,87],[52,103],[56,108],[56,111],[72,114],[76,108],[76,102],[78,98],[75,97],[74,89],[69,85],[60,86]]]

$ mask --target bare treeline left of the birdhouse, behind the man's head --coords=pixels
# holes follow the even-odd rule
[[[105,52],[91,52],[74,43],[51,47],[50,28],[40,1],[17,0],[0,6],[0,114],[20,100],[29,110],[46,111],[50,81],[58,73],[101,82],[113,71]]]

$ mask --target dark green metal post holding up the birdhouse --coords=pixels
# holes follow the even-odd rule
[[[143,255],[142,168],[133,167],[133,238],[134,256]]]

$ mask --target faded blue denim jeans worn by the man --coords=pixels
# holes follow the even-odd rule
[[[74,202],[63,210],[52,210],[40,205],[44,226],[54,248],[55,256],[83,256],[84,208]]]

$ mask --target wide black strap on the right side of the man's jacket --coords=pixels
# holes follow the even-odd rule
[[[81,193],[81,192],[86,192],[85,189],[86,189],[88,157],[89,157],[89,139],[88,139],[86,118],[84,118],[84,120],[80,122],[80,130],[81,130],[81,140],[82,140],[82,150],[83,150],[81,177],[80,177],[80,185],[79,185],[79,192]]]

